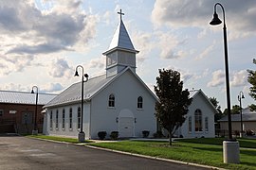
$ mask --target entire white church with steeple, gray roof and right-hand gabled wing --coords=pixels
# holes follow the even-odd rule
[[[44,133],[54,136],[78,137],[81,130],[85,139],[98,139],[98,132],[119,131],[119,138],[142,137],[142,131],[157,130],[155,102],[157,97],[137,76],[135,49],[122,22],[106,52],[106,73],[89,78],[83,86],[83,118],[81,89],[78,82],[60,93],[44,107]],[[183,137],[214,137],[214,107],[202,91],[192,94],[188,118],[177,135]],[[82,125],[81,125],[82,118]]]

